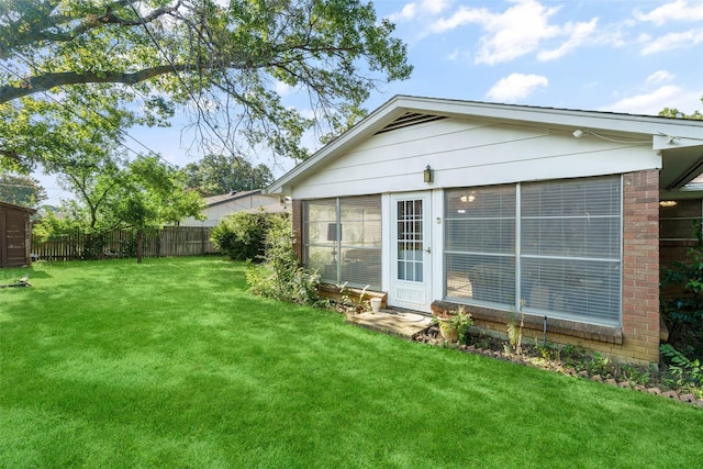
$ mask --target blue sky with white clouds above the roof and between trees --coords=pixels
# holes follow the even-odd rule
[[[409,80],[373,93],[366,103],[369,111],[395,94],[655,115],[666,107],[687,113],[703,109],[703,0],[375,4],[379,18],[395,23],[395,36],[408,44],[415,69]],[[305,111],[295,90],[281,91]],[[185,166],[200,155],[181,147],[180,127],[175,122],[171,129],[131,135]],[[309,146],[314,145],[310,138]],[[292,166],[261,161],[276,176]],[[51,197],[47,203],[67,197],[51,178],[40,179]]]

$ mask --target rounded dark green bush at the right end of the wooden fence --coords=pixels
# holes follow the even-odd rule
[[[283,215],[236,212],[212,228],[210,239],[222,254],[232,259],[260,261],[271,219]]]

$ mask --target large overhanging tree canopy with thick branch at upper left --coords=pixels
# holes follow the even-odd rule
[[[124,142],[179,107],[207,149],[300,160],[306,130],[344,130],[372,90],[410,76],[393,27],[362,0],[0,0],[0,165],[70,154],[65,122]]]

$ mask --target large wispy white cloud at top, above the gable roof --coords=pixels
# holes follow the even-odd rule
[[[440,34],[478,24],[484,34],[479,40],[476,63],[495,65],[537,51],[545,41],[567,37],[563,44],[538,56],[540,60],[560,57],[590,37],[598,22],[592,19],[559,26],[549,20],[561,7],[547,8],[537,0],[509,1],[513,4],[501,13],[492,13],[487,8],[459,7],[451,16],[432,23],[429,32]]]

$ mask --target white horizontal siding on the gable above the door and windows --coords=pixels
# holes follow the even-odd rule
[[[661,167],[650,142],[623,144],[593,135],[574,138],[571,132],[459,119],[419,124],[368,138],[295,186],[293,197],[487,186]],[[434,170],[433,185],[423,182],[427,165]]]

